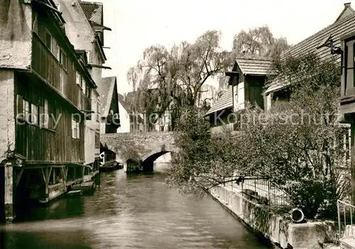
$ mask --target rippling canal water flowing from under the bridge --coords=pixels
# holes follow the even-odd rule
[[[0,226],[0,248],[266,248],[217,201],[182,196],[164,177],[102,173],[91,196],[28,207]]]

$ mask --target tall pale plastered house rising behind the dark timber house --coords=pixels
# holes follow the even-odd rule
[[[55,0],[63,18],[65,18],[65,31],[70,42],[78,52],[87,59],[87,70],[98,87],[102,85],[102,70],[107,57],[104,52],[104,30],[111,30],[103,26],[103,5],[98,2],[84,2],[71,0]],[[93,14],[94,13],[94,14]],[[80,75],[77,75],[77,84],[84,88]],[[99,92],[94,89],[90,96],[92,112],[87,115],[85,126],[85,175],[94,176],[99,172],[99,134],[100,134],[100,100]]]

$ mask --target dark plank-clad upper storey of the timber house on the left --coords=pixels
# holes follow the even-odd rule
[[[65,69],[36,33],[33,33],[31,67],[35,74],[38,74],[70,104],[80,110],[91,110],[90,99],[76,84],[76,70],[73,63],[68,61]]]

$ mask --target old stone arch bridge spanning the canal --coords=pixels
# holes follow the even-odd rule
[[[126,172],[153,172],[153,162],[165,153],[178,153],[173,132],[100,134],[100,142],[124,162]]]

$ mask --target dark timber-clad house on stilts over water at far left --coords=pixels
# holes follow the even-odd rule
[[[97,86],[52,0],[3,8],[9,16],[0,23],[0,216],[11,221],[23,199],[45,203],[82,181],[84,116]]]

